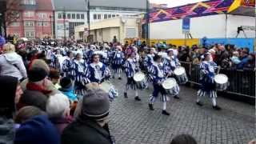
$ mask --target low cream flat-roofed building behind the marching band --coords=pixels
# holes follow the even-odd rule
[[[76,26],[74,38],[87,40],[85,29],[88,26]],[[118,42],[125,42],[126,38],[138,38],[141,33],[141,18],[111,18],[90,24],[91,42],[112,42],[114,36]]]

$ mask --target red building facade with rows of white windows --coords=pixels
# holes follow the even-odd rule
[[[54,15],[51,1],[22,0],[21,6],[18,19],[7,26],[7,34],[29,39],[52,37]]]

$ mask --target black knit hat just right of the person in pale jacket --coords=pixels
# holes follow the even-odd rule
[[[47,75],[48,73],[46,72],[46,70],[41,67],[34,67],[28,71],[28,77],[30,82],[42,81],[44,78],[46,78]]]

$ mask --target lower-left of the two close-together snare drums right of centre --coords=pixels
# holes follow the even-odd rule
[[[175,80],[175,78],[167,78],[164,82],[162,82],[162,87],[166,90],[167,94],[171,96],[178,95],[179,86]]]

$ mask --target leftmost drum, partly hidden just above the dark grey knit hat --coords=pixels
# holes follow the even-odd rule
[[[99,87],[109,94],[110,101],[118,97],[118,90],[109,81],[102,82]]]

